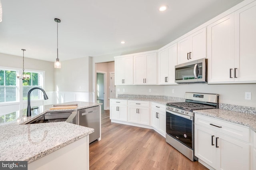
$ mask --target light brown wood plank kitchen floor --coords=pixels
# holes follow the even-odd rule
[[[90,144],[90,170],[208,170],[152,129],[111,123],[102,110],[102,140]]]

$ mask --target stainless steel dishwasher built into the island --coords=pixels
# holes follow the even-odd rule
[[[100,137],[100,106],[78,110],[78,125],[94,128],[89,134],[89,143]]]

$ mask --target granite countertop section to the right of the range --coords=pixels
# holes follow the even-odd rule
[[[196,110],[194,113],[250,127],[256,132],[256,115],[224,109]]]

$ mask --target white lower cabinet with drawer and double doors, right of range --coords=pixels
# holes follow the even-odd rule
[[[216,170],[250,170],[250,128],[195,114],[194,132],[199,162]]]

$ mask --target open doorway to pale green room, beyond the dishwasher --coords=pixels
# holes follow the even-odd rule
[[[101,109],[104,109],[106,110],[106,102],[107,102],[107,99],[106,99],[106,72],[104,71],[97,71],[97,103],[102,103],[101,105]]]

